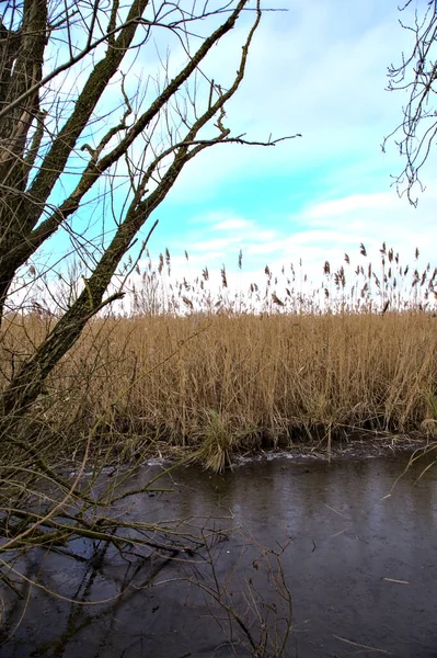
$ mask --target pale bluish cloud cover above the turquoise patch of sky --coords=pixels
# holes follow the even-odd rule
[[[388,8],[379,0],[353,0],[347,11],[341,0],[297,0],[288,12],[265,14],[226,123],[248,138],[295,133],[302,138],[274,148],[228,145],[204,151],[183,172],[172,200],[211,200],[227,181],[251,177],[263,177],[268,189],[277,172],[291,182],[306,173],[310,182],[322,167],[335,185],[353,188],[363,177],[377,175],[376,162],[389,186],[398,152],[392,145],[383,157],[380,144],[401,118],[403,97],[386,91],[387,66],[411,41],[398,18],[395,4]],[[241,38],[235,29],[228,42]],[[233,70],[233,52],[223,66],[217,50],[217,69],[229,65]]]

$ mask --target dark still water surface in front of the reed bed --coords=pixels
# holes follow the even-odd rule
[[[9,628],[18,628],[0,654],[250,656],[238,642],[239,628],[229,636],[223,612],[188,581],[210,586],[216,576],[248,625],[268,613],[284,629],[280,597],[275,614],[262,604],[272,600],[275,557],[268,572],[256,543],[278,551],[288,540],[280,558],[292,597],[287,656],[437,658],[437,466],[414,485],[424,467],[418,464],[391,490],[406,461],[283,458],[222,476],[181,468],[172,476],[174,494],[142,497],[129,513],[142,521],[194,517],[193,524],[206,529],[240,526],[214,545],[215,571],[205,553],[193,567],[188,555],[129,565],[108,551],[93,568],[61,556],[46,557],[41,568],[43,554],[35,553],[23,567],[27,577],[66,598],[101,601],[129,587],[115,601],[93,606],[33,588],[21,623],[22,604],[10,615]],[[137,484],[149,477],[150,469],[140,473]],[[76,548],[87,555],[92,546],[82,542]],[[256,624],[251,628],[256,634]]]

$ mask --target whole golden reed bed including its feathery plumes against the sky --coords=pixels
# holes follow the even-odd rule
[[[394,259],[391,254],[390,262],[399,269]],[[161,263],[165,260],[170,269],[170,254]],[[324,275],[338,294],[323,307],[315,304],[314,292],[297,294],[289,288],[289,295],[279,297],[278,282],[269,271],[263,295],[258,286],[257,307],[250,307],[253,286],[246,297],[237,297],[228,294],[228,282],[225,286],[222,281],[212,297],[199,284],[205,276],[197,283],[172,284],[172,290],[163,281],[154,284],[151,307],[150,285],[148,290],[147,277],[139,273],[135,308],[128,316],[89,324],[47,381],[35,413],[58,435],[64,430],[66,439],[59,446],[71,455],[80,453],[81,438],[93,428],[99,450],[111,444],[118,458],[129,460],[138,446],[150,444],[161,452],[185,451],[215,468],[235,451],[302,440],[329,442],[356,431],[368,436],[435,435],[435,271],[428,265],[426,272],[424,276],[412,270],[413,295],[400,296],[394,308],[394,276],[387,276],[384,295],[379,296],[367,294],[368,281],[357,304],[356,284],[347,288],[326,263]],[[159,270],[147,268],[146,273],[160,281]],[[367,273],[375,287],[372,272]],[[364,269],[356,276],[365,276]],[[365,286],[366,281],[360,290]],[[325,288],[321,287],[327,299]],[[164,306],[175,292],[179,313]],[[202,295],[209,299],[203,309]],[[7,317],[3,386],[55,321],[55,314],[42,310]]]

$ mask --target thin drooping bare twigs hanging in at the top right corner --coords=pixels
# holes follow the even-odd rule
[[[411,10],[413,2],[407,0],[400,11]],[[424,3],[425,4],[425,3]],[[406,192],[412,205],[417,205],[413,190],[417,184],[423,191],[421,170],[428,159],[437,134],[437,2],[427,0],[425,11],[414,12],[412,24],[400,21],[401,26],[414,36],[414,45],[409,54],[402,54],[400,66],[391,65],[388,70],[389,91],[403,91],[407,94],[402,109],[400,125],[383,141],[395,139],[405,166],[394,177],[398,192]],[[400,135],[400,137],[398,137]]]

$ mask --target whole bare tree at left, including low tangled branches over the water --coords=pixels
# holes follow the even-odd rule
[[[50,428],[56,413],[46,416],[50,396],[34,402],[87,322],[123,296],[157,220],[139,240],[141,229],[184,167],[212,146],[278,141],[251,141],[227,125],[227,103],[243,80],[262,13],[261,0],[0,3],[1,338],[13,326],[9,315],[24,309],[28,286],[36,282],[53,294],[56,285],[68,286],[69,266],[74,277],[39,343],[25,341],[30,350],[20,354],[13,340],[1,345],[11,367],[0,373],[7,382],[0,392],[0,586],[13,597],[39,587],[20,564],[35,547],[77,560],[73,541],[81,538],[94,544],[93,559],[112,547],[142,564],[150,556],[193,555],[205,545],[205,533],[182,529],[177,520],[136,522],[124,515],[138,497],[171,489],[159,484],[162,472],[135,484],[136,467],[153,446],[147,432],[130,447],[106,441],[104,428],[117,400],[78,439],[67,422],[64,432],[62,419]],[[223,48],[234,48],[238,39],[227,70]],[[51,251],[62,239],[65,246],[66,236],[77,260],[56,268],[55,285]],[[149,283],[153,309],[159,304],[153,277]],[[26,318],[20,328],[26,332]],[[195,336],[169,345],[159,365]],[[91,362],[95,372],[100,347]],[[157,367],[137,376],[133,363],[127,396]],[[59,407],[68,407],[68,399],[59,397]],[[81,398],[74,408],[87,402]]]

